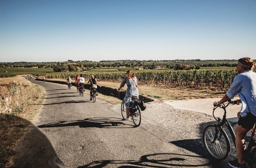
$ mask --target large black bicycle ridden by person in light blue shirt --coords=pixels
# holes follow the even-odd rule
[[[230,101],[228,103],[223,103],[220,106],[216,106],[213,108],[213,117],[216,119],[216,124],[211,124],[206,126],[206,128],[203,131],[203,143],[207,150],[207,152],[210,154],[211,157],[217,160],[224,160],[228,157],[228,154],[230,153],[231,144],[230,140],[227,136],[227,133],[225,132],[225,129],[227,128],[228,131],[231,134],[232,141],[236,147],[235,139],[236,135],[235,132],[230,124],[230,122],[226,118],[226,107],[228,105],[235,105],[236,101]],[[224,110],[224,114],[222,119],[217,118],[214,115],[214,112],[216,108],[222,108]],[[256,124],[256,123],[255,123]],[[255,134],[255,124],[253,127],[252,134],[250,136],[250,141],[246,142],[246,151],[244,152],[244,158],[245,161],[252,167],[256,167],[256,148],[252,148],[253,146],[256,146],[256,138],[254,137]]]

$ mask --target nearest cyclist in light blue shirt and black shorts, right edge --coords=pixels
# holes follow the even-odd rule
[[[256,73],[252,71],[255,67],[256,62],[251,58],[240,58],[236,63],[238,75],[234,78],[231,87],[219,102],[213,103],[214,106],[219,106],[230,101],[238,93],[240,99],[237,100],[237,105],[242,104],[240,112],[237,113],[239,119],[235,130],[237,159],[228,161],[233,168],[246,167],[243,159],[243,150],[246,149],[244,137],[256,122]]]

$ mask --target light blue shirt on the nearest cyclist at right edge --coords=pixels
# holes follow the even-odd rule
[[[241,99],[240,114],[245,117],[248,112],[256,116],[256,73],[253,71],[243,71],[238,74],[228,89],[226,95],[232,99],[238,93]]]

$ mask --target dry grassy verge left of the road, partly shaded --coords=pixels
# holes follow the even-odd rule
[[[24,77],[0,78],[0,167],[12,165],[15,147],[39,112],[44,94]]]

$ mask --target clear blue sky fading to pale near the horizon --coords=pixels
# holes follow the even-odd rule
[[[0,0],[0,62],[256,59],[256,0]]]

